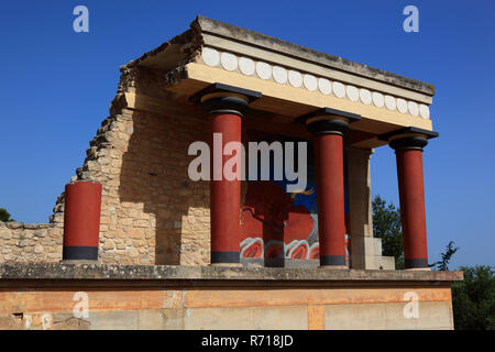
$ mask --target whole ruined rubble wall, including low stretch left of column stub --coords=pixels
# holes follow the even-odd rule
[[[70,180],[102,185],[100,262],[208,264],[209,184],[187,174],[189,144],[207,140],[208,120],[129,109],[125,92],[169,100],[164,73],[131,66],[121,68],[110,116]],[[50,224],[0,224],[0,263],[61,261],[63,227],[64,194]]]

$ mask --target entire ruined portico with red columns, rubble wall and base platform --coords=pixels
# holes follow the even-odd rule
[[[0,328],[453,328],[462,274],[428,271],[431,85],[202,16],[121,72],[51,223],[0,224]],[[307,142],[306,189],[191,180],[189,145],[213,133]],[[370,156],[386,145],[406,271],[373,238]]]

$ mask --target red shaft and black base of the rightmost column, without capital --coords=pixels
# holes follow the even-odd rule
[[[397,150],[396,158],[406,268],[428,267],[422,151]]]

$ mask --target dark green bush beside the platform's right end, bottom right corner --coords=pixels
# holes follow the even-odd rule
[[[461,266],[464,280],[452,285],[455,330],[495,330],[495,276],[488,265]]]

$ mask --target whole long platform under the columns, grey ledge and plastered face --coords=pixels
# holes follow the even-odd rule
[[[461,272],[4,264],[0,329],[452,329],[450,286],[460,279]]]

